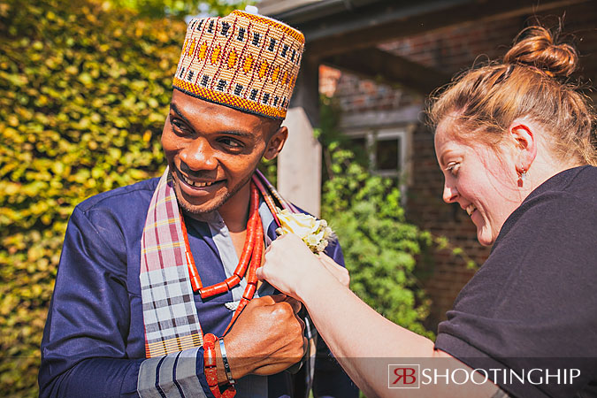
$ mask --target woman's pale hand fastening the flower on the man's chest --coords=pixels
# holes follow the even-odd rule
[[[316,256],[293,233],[280,236],[265,251],[265,264],[257,278],[266,279],[280,292],[301,299],[305,287],[339,283],[348,287],[348,271],[325,254]]]

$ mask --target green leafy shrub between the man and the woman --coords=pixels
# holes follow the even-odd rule
[[[384,317],[433,338],[424,326],[431,302],[419,269],[422,255],[440,246],[440,240],[406,221],[400,181],[370,172],[369,155],[338,127],[341,109],[336,100],[321,96],[319,105],[321,213],[341,242],[350,288]]]

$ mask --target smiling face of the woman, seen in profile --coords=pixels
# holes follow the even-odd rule
[[[488,246],[522,203],[515,159],[504,146],[496,150],[455,139],[453,125],[444,120],[435,134],[435,153],[445,178],[443,199],[460,204],[477,226],[478,241]]]

